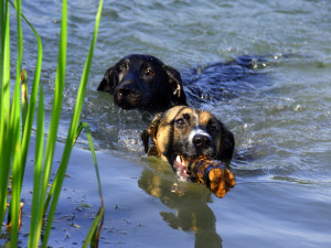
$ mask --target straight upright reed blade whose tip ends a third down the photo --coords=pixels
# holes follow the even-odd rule
[[[32,195],[32,208],[31,208],[31,223],[30,223],[30,235],[29,235],[29,247],[38,247],[40,236],[36,229],[36,223],[42,223],[43,218],[38,218],[38,213],[42,209],[42,203],[40,202],[40,182],[41,182],[41,168],[43,162],[43,150],[44,150],[44,90],[41,85],[39,95],[39,107],[38,107],[38,121],[36,121],[36,137],[35,137],[35,162],[34,162],[34,175],[33,175],[33,195]]]

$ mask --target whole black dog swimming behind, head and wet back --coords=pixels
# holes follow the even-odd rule
[[[265,85],[267,80],[258,68],[267,62],[267,56],[244,55],[180,74],[154,56],[131,54],[107,69],[97,89],[113,94],[114,103],[124,109],[199,107],[200,103],[231,99],[258,84]]]

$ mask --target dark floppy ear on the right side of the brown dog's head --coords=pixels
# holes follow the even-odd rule
[[[233,157],[233,151],[235,147],[235,139],[231,131],[228,131],[224,125],[220,122],[222,134],[221,134],[221,145],[217,153],[217,160],[229,161]]]

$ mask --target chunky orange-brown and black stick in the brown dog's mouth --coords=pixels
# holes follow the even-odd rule
[[[234,174],[222,165],[222,162],[205,155],[196,158],[178,155],[173,162],[173,168],[180,177],[184,180],[195,179],[197,183],[205,185],[221,198],[231,191],[231,187],[236,185]]]

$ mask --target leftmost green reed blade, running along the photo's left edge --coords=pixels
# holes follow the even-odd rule
[[[4,7],[4,8],[3,8]],[[10,28],[9,4],[1,1],[1,91],[0,91],[0,222],[7,209],[7,184],[10,171]],[[1,228],[0,228],[1,233]]]

